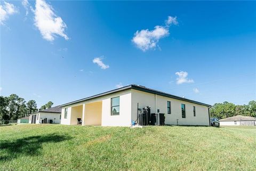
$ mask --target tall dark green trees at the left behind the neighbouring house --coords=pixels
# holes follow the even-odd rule
[[[39,110],[51,108],[53,102],[49,101],[42,105]],[[10,96],[0,96],[0,121],[1,120],[17,120],[27,117],[30,113],[38,111],[35,100],[25,101],[16,94]]]

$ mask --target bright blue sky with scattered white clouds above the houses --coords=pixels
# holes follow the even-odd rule
[[[244,104],[255,21],[256,2],[1,1],[1,95],[41,107],[139,84]]]

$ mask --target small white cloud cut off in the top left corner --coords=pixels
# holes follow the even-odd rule
[[[9,15],[17,13],[17,8],[10,3],[4,2],[4,4],[0,4],[0,24],[4,25],[4,21],[9,18]]]

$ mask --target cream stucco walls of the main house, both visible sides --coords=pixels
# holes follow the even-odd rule
[[[120,97],[119,115],[111,116],[111,98],[117,96]],[[171,102],[171,114],[167,114],[167,101]],[[93,104],[94,102],[99,104]],[[101,107],[100,103],[102,103]],[[137,103],[139,103],[139,108],[146,106],[151,107],[152,113],[157,112],[157,109],[160,110],[160,113],[165,113],[165,124],[167,125],[177,125],[178,119],[178,125],[209,126],[210,118],[208,107],[204,105],[185,102],[134,89],[128,89],[123,92],[117,92],[76,104],[67,105],[62,108],[61,124],[76,125],[77,118],[83,118],[82,113],[84,110],[85,116],[83,122],[85,125],[100,125],[99,118],[101,110],[101,126],[130,126],[131,120],[137,120]],[[186,118],[182,118],[181,116],[181,104],[186,104]],[[85,109],[83,109],[83,105]],[[93,107],[93,105],[95,106]],[[196,107],[195,117],[193,113],[193,106]],[[68,108],[67,119],[64,118],[65,108]],[[94,119],[92,119],[91,113],[96,113]]]

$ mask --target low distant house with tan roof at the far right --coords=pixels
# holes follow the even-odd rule
[[[225,119],[220,119],[220,125],[255,126],[256,119],[250,116],[237,115]]]

